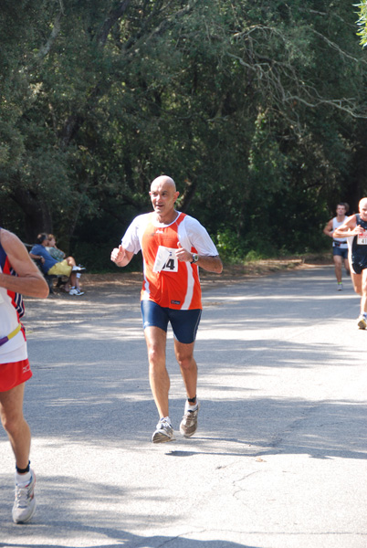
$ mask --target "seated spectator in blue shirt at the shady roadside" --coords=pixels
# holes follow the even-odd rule
[[[63,258],[62,260],[53,258],[47,251],[47,245],[48,235],[45,233],[38,234],[37,244],[29,251],[29,256],[40,261],[44,274],[49,276],[68,276],[69,295],[83,295],[83,291],[78,287],[79,278],[77,278],[77,273],[80,273],[84,268],[77,267],[75,259],[72,257]]]

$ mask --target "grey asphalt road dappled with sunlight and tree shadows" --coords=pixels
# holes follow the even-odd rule
[[[37,513],[11,521],[0,431],[0,546],[365,548],[367,331],[331,267],[204,291],[199,429],[170,334],[175,442],[150,441],[139,290],[26,300]]]

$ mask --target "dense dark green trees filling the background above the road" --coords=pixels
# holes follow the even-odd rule
[[[106,268],[169,174],[228,257],[304,252],[366,194],[350,3],[4,0],[0,31],[0,224],[25,241]]]

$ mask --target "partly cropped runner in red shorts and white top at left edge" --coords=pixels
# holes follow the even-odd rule
[[[47,282],[18,237],[0,228],[0,414],[16,456],[16,523],[29,522],[36,510],[36,479],[29,468],[31,434],[23,416],[25,383],[32,372],[19,321],[24,313],[21,294],[46,298]]]

